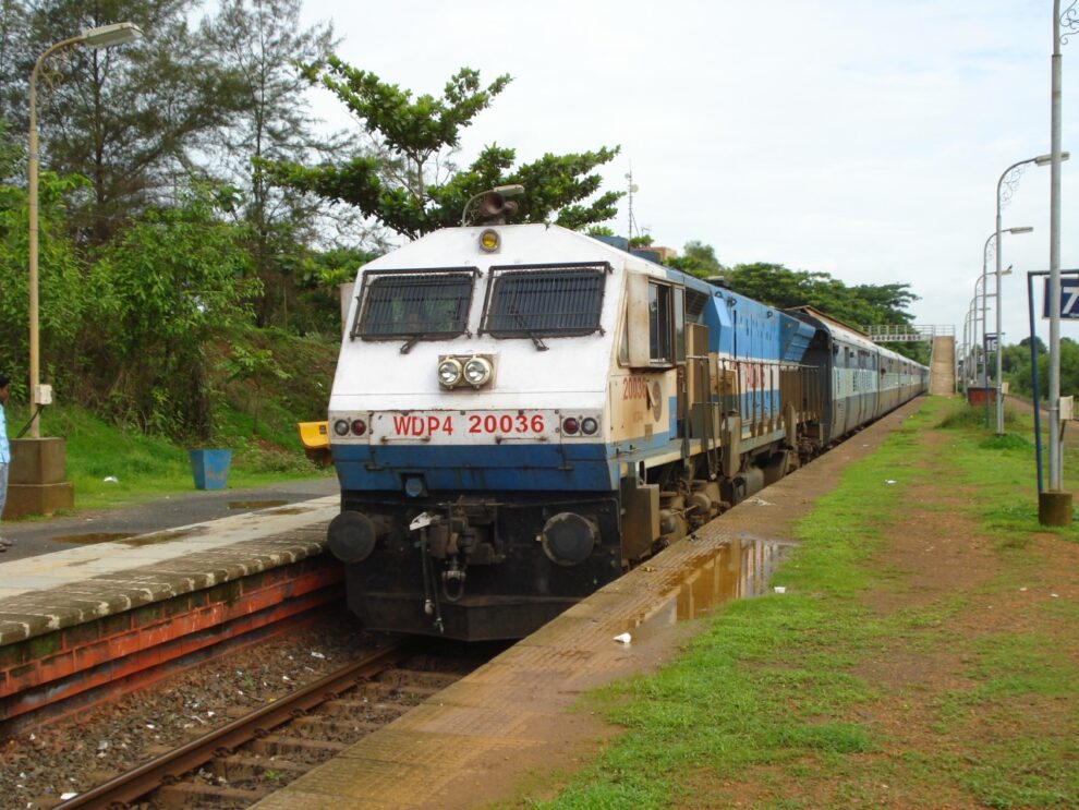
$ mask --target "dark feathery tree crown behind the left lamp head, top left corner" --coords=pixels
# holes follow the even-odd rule
[[[15,1],[17,0],[9,0]],[[41,0],[32,5],[29,43],[14,75],[25,83],[33,60],[87,27],[131,21],[145,38],[116,48],[68,48],[44,65],[38,84],[41,158],[60,176],[90,181],[88,205],[72,228],[92,242],[121,222],[174,197],[198,172],[207,136],[241,108],[234,73],[189,28],[196,0]],[[25,124],[22,104],[9,111]]]

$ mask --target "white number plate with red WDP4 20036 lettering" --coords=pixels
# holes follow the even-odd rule
[[[383,411],[371,418],[372,442],[435,442],[446,445],[550,442],[558,436],[554,411]]]

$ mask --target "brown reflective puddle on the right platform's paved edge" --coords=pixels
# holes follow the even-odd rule
[[[797,546],[792,541],[743,536],[682,571],[678,620],[698,618],[716,605],[760,596],[779,561]]]

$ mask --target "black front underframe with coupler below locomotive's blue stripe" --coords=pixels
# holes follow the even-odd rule
[[[341,506],[379,527],[371,556],[347,567],[349,608],[375,630],[521,638],[622,572],[617,493],[344,493]],[[596,530],[575,565],[545,552],[544,528],[561,513]],[[410,529],[424,515],[436,520]]]

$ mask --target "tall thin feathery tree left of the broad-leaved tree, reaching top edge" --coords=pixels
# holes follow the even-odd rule
[[[288,321],[289,298],[318,205],[308,195],[271,185],[262,160],[302,160],[328,154],[332,140],[316,136],[300,63],[317,62],[335,45],[332,28],[300,26],[300,0],[222,0],[202,25],[202,38],[220,65],[237,76],[242,109],[222,131],[219,172],[240,194],[235,214],[250,226],[252,270],[262,279],[257,323]]]

